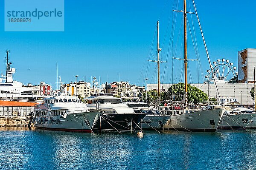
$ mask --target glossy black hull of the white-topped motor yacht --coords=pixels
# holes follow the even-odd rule
[[[97,120],[93,130],[133,132],[145,116],[146,114],[138,113],[103,114]]]

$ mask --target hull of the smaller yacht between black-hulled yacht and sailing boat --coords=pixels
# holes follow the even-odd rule
[[[144,130],[161,130],[169,118],[170,116],[154,116],[147,114],[139,123],[139,127]]]

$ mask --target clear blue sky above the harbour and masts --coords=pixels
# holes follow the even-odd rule
[[[173,39],[174,46],[176,42],[178,44],[177,50],[171,50],[169,57],[166,58],[172,35],[174,3],[177,3],[177,0],[65,0],[63,32],[6,32],[2,13],[0,72],[5,73],[5,52],[9,49],[12,67],[17,71],[14,75],[15,80],[24,84],[45,81],[55,88],[56,63],[63,82],[74,81],[75,75],[79,75],[79,80],[86,77],[86,81],[90,81],[91,76],[96,76],[98,79],[101,77],[102,82],[106,82],[107,77],[108,82],[112,82],[118,81],[120,74],[120,80],[132,84],[143,85],[145,77],[149,79],[148,83],[154,83],[156,65],[148,63],[147,60],[156,57],[154,34],[159,20],[161,59],[167,60],[166,64],[161,64],[161,82],[172,83],[172,74],[173,82],[182,81],[182,78],[179,78],[182,73],[182,62],[174,61],[175,66],[172,66],[172,57],[183,57],[180,53],[182,37]],[[191,6],[192,0],[189,0],[189,3]],[[254,0],[195,0],[195,3],[212,62],[218,58],[225,58],[237,65],[238,51],[256,48]],[[178,9],[181,10],[182,1],[178,4]],[[3,0],[0,3],[0,11],[4,11]],[[200,54],[199,70],[205,74],[209,64],[195,14],[191,15]],[[188,17],[191,22],[191,16]],[[169,18],[171,21],[168,27]],[[181,13],[177,14],[177,20],[176,30],[182,21]],[[178,37],[177,34],[174,37]],[[195,53],[189,35],[188,40],[189,58],[192,59],[195,58]],[[151,48],[153,55],[150,55]],[[204,74],[196,71],[196,63],[189,64],[190,83],[198,81],[197,75],[199,82],[204,81]],[[166,71],[163,77],[164,70]]]

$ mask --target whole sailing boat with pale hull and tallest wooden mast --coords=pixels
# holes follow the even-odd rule
[[[184,94],[184,105],[176,106],[158,106],[162,114],[170,115],[170,119],[164,125],[164,128],[170,130],[187,130],[187,131],[215,131],[219,125],[221,117],[225,111],[224,108],[214,108],[211,107],[208,109],[198,109],[198,108],[189,108],[188,102],[188,84],[187,84],[187,31],[186,31],[186,0],[184,0],[184,10],[179,11],[183,12],[184,15],[184,73],[185,73],[185,94]],[[189,13],[189,12],[188,12]],[[204,39],[204,38],[203,38]],[[206,48],[207,49],[207,48]],[[207,52],[207,57],[208,52]],[[208,58],[209,60],[209,58]],[[210,62],[209,62],[210,64]],[[159,83],[159,82],[158,82]],[[159,86],[159,85],[158,85]]]

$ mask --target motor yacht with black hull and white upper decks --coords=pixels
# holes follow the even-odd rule
[[[135,113],[120,98],[111,94],[98,94],[85,98],[90,109],[104,112],[93,129],[103,131],[134,131],[146,114]]]

